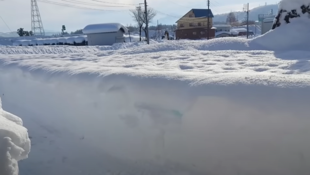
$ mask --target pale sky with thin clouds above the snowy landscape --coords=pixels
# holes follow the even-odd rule
[[[37,5],[46,31],[60,31],[62,25],[66,25],[67,31],[75,31],[94,23],[120,22],[124,25],[134,25],[129,9],[135,9],[136,4],[143,2],[144,0],[37,0]],[[210,0],[210,2],[213,13],[221,14],[242,11],[243,4],[246,3],[249,3],[252,9],[264,5],[265,2],[275,4],[277,1]],[[158,15],[150,25],[157,24],[157,20],[159,23],[162,21],[173,24],[190,9],[207,8],[206,1],[201,0],[147,0],[147,3],[150,8],[158,11]],[[7,27],[0,19],[0,31],[9,32],[10,29],[16,31],[20,27],[31,30],[30,9],[31,0],[0,0],[0,16],[8,25]]]

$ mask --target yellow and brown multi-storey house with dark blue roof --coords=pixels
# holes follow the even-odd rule
[[[209,21],[208,21],[209,14]],[[175,30],[176,39],[205,39],[215,37],[215,30],[212,28],[213,14],[211,9],[191,9],[177,23]],[[209,22],[209,29],[208,29]]]

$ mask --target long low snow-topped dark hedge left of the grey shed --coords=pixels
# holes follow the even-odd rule
[[[59,38],[36,38],[32,40],[16,40],[13,46],[50,46],[50,45],[69,45],[69,46],[87,46],[87,36],[72,36]]]

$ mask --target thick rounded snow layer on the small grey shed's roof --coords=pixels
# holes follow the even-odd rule
[[[83,29],[84,34],[117,32],[120,29],[127,33],[128,29],[121,23],[90,24]]]

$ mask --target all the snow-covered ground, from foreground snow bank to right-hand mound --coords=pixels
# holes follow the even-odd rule
[[[0,151],[22,154],[5,162],[21,175],[307,175],[309,23],[283,19],[253,39],[1,46]]]

